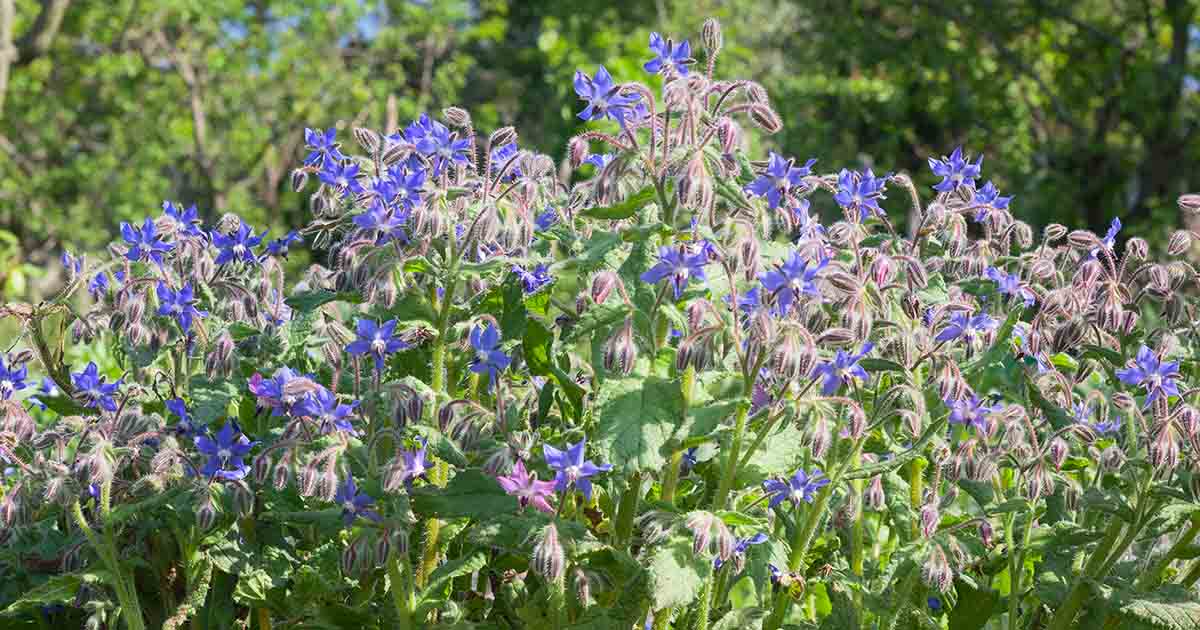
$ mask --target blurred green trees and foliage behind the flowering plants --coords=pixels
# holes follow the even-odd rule
[[[164,198],[300,224],[305,126],[353,142],[457,104],[560,156],[577,67],[646,80],[649,32],[698,43],[706,16],[724,76],[786,122],[769,146],[821,170],[931,184],[925,160],[964,144],[1018,217],[1121,216],[1151,242],[1200,188],[1194,0],[0,0],[0,293],[37,295],[59,251]]]

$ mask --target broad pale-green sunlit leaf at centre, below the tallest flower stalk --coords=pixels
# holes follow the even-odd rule
[[[606,380],[596,397],[595,444],[625,472],[661,470],[662,446],[683,419],[679,384],[660,377]]]

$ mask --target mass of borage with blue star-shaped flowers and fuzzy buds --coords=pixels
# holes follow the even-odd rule
[[[308,130],[300,233],[168,203],[6,305],[7,618],[1200,625],[1195,235],[1036,239],[961,149],[931,198],[751,162],[782,122],[702,42],[576,74],[574,186],[457,108]]]

